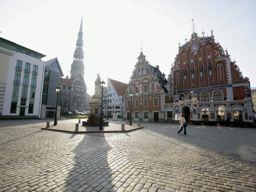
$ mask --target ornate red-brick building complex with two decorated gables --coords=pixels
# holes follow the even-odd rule
[[[137,59],[124,94],[123,120],[129,119],[132,104],[132,121],[171,123],[184,113],[187,122],[218,117],[253,122],[249,78],[215,42],[212,31],[207,37],[194,32],[185,44],[179,43],[167,79],[142,52]]]

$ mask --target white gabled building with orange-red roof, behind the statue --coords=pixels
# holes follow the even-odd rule
[[[123,116],[122,101],[126,88],[126,83],[108,78],[107,86],[104,88],[103,92],[105,96],[102,109],[104,116],[107,116],[107,113],[108,116],[113,116],[113,113],[117,113],[118,116]]]

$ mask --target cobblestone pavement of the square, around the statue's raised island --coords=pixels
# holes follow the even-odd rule
[[[178,135],[178,125],[144,123],[99,136],[18,123],[0,122],[0,192],[256,191],[255,129],[188,126]]]

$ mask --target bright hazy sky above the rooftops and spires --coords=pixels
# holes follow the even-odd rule
[[[0,6],[1,37],[58,57],[64,75],[70,67],[83,16],[84,65],[87,92],[94,94],[97,73],[128,83],[136,59],[143,53],[151,65],[168,75],[178,42],[196,32],[213,35],[236,60],[251,87],[255,75],[255,0],[8,0]]]

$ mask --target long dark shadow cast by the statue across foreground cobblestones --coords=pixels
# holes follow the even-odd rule
[[[97,135],[97,136],[96,136]],[[68,175],[65,183],[59,186],[61,191],[115,191],[114,181],[110,176],[116,171],[113,162],[120,160],[122,152],[111,147],[110,141],[106,140],[104,133],[92,135],[71,135],[75,139],[82,136],[83,139],[76,145],[66,158]],[[116,167],[119,165],[116,165]],[[113,188],[113,189],[111,189]]]

